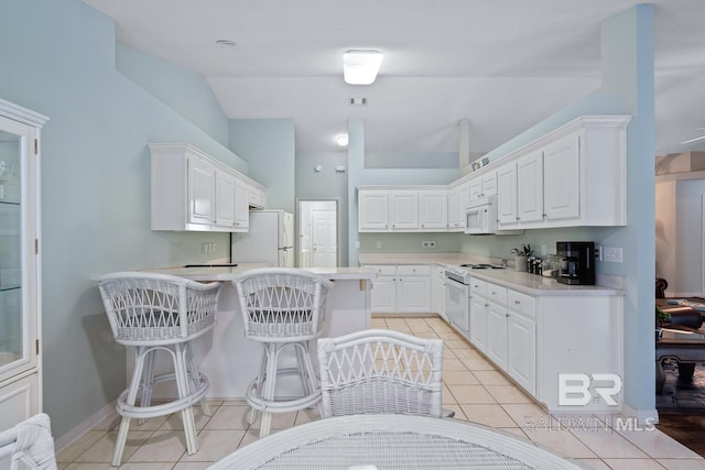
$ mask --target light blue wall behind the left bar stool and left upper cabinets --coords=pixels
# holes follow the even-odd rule
[[[42,357],[44,408],[56,437],[124,386],[124,353],[96,277],[206,261],[204,241],[216,242],[209,259],[228,255],[227,234],[150,230],[148,143],[188,142],[247,168],[225,145],[227,122],[193,73],[121,54],[126,70],[134,72],[138,61],[164,74],[163,84],[183,87],[156,97],[149,90],[156,80],[147,84],[154,77],[130,73],[128,79],[116,70],[115,51],[112,20],[79,0],[3,2],[0,98],[50,118],[42,131]],[[188,96],[210,105],[187,116]]]

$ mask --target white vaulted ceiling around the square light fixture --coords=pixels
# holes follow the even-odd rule
[[[202,74],[231,119],[290,118],[296,151],[488,152],[599,87],[600,22],[634,0],[84,0],[118,41]],[[652,0],[657,154],[705,150],[705,1]],[[216,44],[230,40],[236,47]],[[370,86],[343,53],[384,54]],[[352,107],[348,99],[365,97]]]

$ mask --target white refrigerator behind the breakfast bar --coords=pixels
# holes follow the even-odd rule
[[[294,216],[283,210],[250,211],[247,233],[232,233],[231,263],[294,267]]]

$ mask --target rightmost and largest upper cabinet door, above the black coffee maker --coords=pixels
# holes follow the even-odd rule
[[[543,149],[546,220],[581,216],[579,136],[567,135]]]

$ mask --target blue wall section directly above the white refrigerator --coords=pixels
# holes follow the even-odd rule
[[[268,209],[294,212],[294,121],[234,119],[230,147],[248,162],[249,176],[267,186]]]

